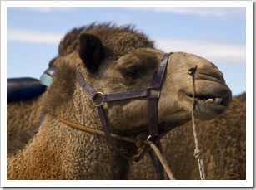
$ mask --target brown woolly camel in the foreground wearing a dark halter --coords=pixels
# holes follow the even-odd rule
[[[135,144],[117,140],[113,145],[106,137],[73,129],[58,117],[102,130],[104,114],[109,133],[144,139],[149,125],[147,92],[158,99],[158,132],[174,129],[191,119],[193,85],[188,71],[194,66],[198,119],[216,118],[231,102],[223,73],[203,57],[186,52],[169,55],[163,84],[156,93],[150,89],[166,54],[155,49],[142,32],[109,24],[77,31],[81,33],[73,41],[64,37],[60,44],[55,61],[61,64],[43,100],[43,121],[28,144],[9,154],[8,179],[127,179],[130,161],[123,155],[136,156]],[[111,94],[128,95],[133,90],[143,90],[143,95],[108,102]],[[98,103],[96,95],[107,102]]]

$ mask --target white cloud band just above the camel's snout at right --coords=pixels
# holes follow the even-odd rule
[[[246,64],[245,45],[228,41],[202,39],[154,38],[156,46],[165,51],[186,51],[209,61],[224,64]]]

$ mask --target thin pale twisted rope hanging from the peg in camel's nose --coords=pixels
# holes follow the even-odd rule
[[[198,144],[198,135],[196,131],[196,124],[194,121],[194,105],[195,105],[195,91],[196,91],[196,86],[195,86],[195,80],[194,80],[194,74],[197,71],[198,66],[195,66],[194,68],[191,68],[188,70],[188,74],[192,76],[192,82],[193,82],[193,100],[192,100],[192,126],[193,126],[193,138],[194,138],[194,143],[195,143],[195,150],[194,150],[194,157],[198,159],[198,168],[200,172],[200,178],[201,180],[205,180],[205,172],[204,172],[204,167],[203,167],[203,155],[202,151],[199,149],[199,144]]]

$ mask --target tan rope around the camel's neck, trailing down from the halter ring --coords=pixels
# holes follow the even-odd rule
[[[71,121],[68,121],[66,119],[61,118],[58,115],[56,115],[55,118],[58,119],[59,121],[61,121],[63,124],[67,124],[68,126],[73,127],[74,129],[79,129],[79,130],[82,130],[82,131],[85,131],[85,132],[88,132],[88,133],[91,133],[91,134],[98,134],[98,135],[101,135],[101,136],[105,136],[104,132],[101,131],[101,130],[88,128],[88,127],[85,127],[85,126],[80,125],[80,124],[75,124]],[[142,144],[148,144],[153,149],[154,153],[157,155],[160,162],[162,163],[163,168],[164,168],[165,172],[168,175],[168,178],[170,178],[171,180],[175,180],[175,178],[173,176],[173,173],[171,171],[171,168],[168,167],[166,159],[163,158],[163,154],[160,152],[158,147],[155,144],[153,144],[152,141],[148,140],[148,139],[150,139],[150,136],[148,137],[147,140],[140,140],[140,139],[133,139],[133,138],[128,138],[128,137],[123,137],[123,136],[120,136],[118,134],[110,134],[110,136],[113,139],[123,140],[123,141],[126,141],[128,143],[136,144],[137,148],[139,148],[138,144],[140,144],[140,146],[142,146]]]

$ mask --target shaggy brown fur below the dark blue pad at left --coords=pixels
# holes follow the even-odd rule
[[[28,144],[38,132],[44,116],[43,104],[47,92],[32,100],[8,103],[7,105],[7,152],[8,157]]]

